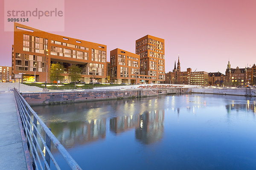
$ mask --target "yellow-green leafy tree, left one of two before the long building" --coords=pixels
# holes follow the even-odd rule
[[[60,63],[52,63],[50,80],[57,81],[57,87],[58,87],[58,80],[62,81],[64,78],[64,76],[61,75],[63,73],[64,73],[63,65],[61,65]]]

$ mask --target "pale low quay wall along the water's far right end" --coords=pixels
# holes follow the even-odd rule
[[[238,96],[256,96],[256,89],[251,88],[192,88],[192,93],[224,94]]]

